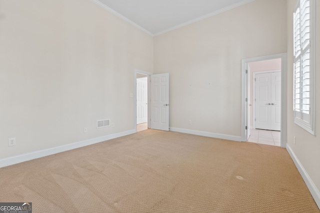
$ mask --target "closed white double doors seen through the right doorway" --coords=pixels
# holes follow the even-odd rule
[[[280,130],[281,72],[255,74],[255,128]]]

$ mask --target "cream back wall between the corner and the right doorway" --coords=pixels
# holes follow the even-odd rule
[[[241,136],[241,59],[286,52],[286,0],[255,0],[154,38],[170,127]],[[192,120],[192,124],[188,124]]]

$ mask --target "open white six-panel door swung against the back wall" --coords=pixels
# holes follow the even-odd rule
[[[151,75],[150,128],[169,131],[169,73]]]

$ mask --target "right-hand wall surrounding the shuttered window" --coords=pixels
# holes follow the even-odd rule
[[[313,136],[294,124],[293,122],[293,21],[292,14],[296,0],[287,0],[287,53],[288,53],[288,78],[287,78],[287,148],[291,149],[296,160],[309,176],[314,184],[314,191],[317,191],[317,198],[313,197],[320,207],[320,2],[316,0],[316,118],[315,135]],[[293,137],[295,136],[295,144]],[[290,150],[289,150],[290,151]],[[300,169],[298,167],[298,169]],[[312,190],[310,190],[312,193]],[[313,196],[315,195],[313,191]]]

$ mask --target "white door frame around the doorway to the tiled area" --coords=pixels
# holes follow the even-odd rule
[[[248,88],[246,82],[246,64],[249,62],[263,61],[269,59],[281,58],[281,147],[286,147],[286,131],[287,131],[287,122],[286,122],[286,108],[287,108],[287,54],[279,53],[273,55],[266,55],[254,58],[246,58],[241,60],[241,141],[244,142],[247,140],[245,126],[247,124],[247,116],[245,113],[245,105],[247,102],[246,98],[246,89]],[[249,127],[247,127],[249,128]]]

